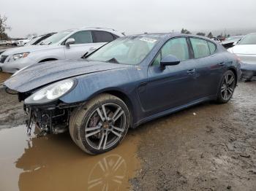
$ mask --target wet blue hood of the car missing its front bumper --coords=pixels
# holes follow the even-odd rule
[[[14,77],[7,79],[4,85],[11,90],[23,93],[61,79],[100,71],[124,69],[126,67],[130,66],[117,63],[85,61],[83,59],[78,61],[50,61],[38,63],[20,71]]]

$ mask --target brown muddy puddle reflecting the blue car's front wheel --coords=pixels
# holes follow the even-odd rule
[[[116,149],[91,156],[68,133],[30,139],[24,125],[0,130],[0,190],[131,190],[138,141],[129,132]]]

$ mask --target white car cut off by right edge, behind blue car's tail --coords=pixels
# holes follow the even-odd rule
[[[256,33],[247,34],[236,46],[228,49],[241,59],[242,78],[256,77]]]

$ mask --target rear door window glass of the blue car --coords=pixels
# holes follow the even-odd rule
[[[190,38],[195,58],[203,58],[211,55],[208,42],[203,39]]]

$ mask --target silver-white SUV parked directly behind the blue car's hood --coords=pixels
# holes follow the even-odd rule
[[[124,34],[110,28],[80,28],[61,31],[37,45],[16,47],[1,54],[3,71],[16,71],[34,63],[81,58]]]

